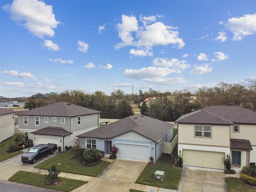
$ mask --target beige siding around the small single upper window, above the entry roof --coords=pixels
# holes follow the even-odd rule
[[[256,125],[239,125],[239,132],[233,132],[233,125],[230,126],[230,138],[247,139],[251,145],[256,146]]]

